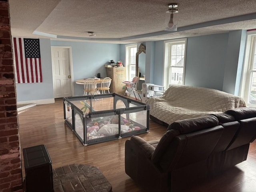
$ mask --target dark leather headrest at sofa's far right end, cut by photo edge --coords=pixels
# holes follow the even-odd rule
[[[225,113],[234,116],[236,120],[249,119],[256,117],[255,107],[240,107],[227,110]]]

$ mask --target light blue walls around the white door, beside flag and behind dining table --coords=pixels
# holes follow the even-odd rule
[[[74,80],[97,76],[97,73],[106,77],[104,64],[108,64],[110,60],[115,62],[122,60],[120,59],[120,44],[54,41],[41,38],[40,53],[43,82],[16,84],[17,102],[54,98],[51,46],[71,46]],[[82,85],[75,82],[73,84],[74,96],[83,95]]]

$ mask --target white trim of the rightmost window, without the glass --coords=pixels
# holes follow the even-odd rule
[[[248,93],[250,89],[250,86],[248,86],[248,84],[251,84],[249,69],[252,65],[250,61],[252,60],[252,52],[254,51],[254,49],[251,48],[251,41],[253,36],[256,36],[256,30],[247,32],[246,51],[244,54],[244,66],[243,66],[242,78],[241,78],[242,86],[240,88],[240,94],[239,94],[242,98],[244,98],[248,106],[250,106],[250,104],[248,104],[248,100],[249,100]]]

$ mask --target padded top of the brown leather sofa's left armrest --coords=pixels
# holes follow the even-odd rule
[[[151,159],[152,154],[156,148],[146,142],[144,139],[140,138],[139,136],[132,136],[130,141],[134,143],[136,146],[138,146],[138,151],[146,156],[146,158]]]

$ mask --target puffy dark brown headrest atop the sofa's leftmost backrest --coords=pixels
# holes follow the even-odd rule
[[[215,116],[208,115],[204,117],[175,121],[168,126],[167,130],[174,129],[178,130],[181,134],[186,134],[217,125],[218,119]]]

